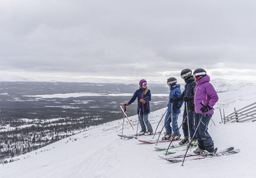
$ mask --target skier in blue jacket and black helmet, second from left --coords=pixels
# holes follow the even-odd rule
[[[177,79],[175,77],[168,78],[167,84],[170,87],[168,110],[166,113],[166,118],[164,119],[164,127],[166,128],[166,134],[163,139],[180,139],[180,131],[178,126],[178,117],[180,114],[180,107],[182,107],[183,101],[173,102],[172,98],[180,97],[182,91],[180,91],[180,85],[177,84]],[[171,132],[171,122],[173,125],[173,135]]]

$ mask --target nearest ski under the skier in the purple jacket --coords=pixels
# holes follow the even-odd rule
[[[187,159],[187,160],[185,159],[184,161],[202,160],[204,158],[213,158],[213,157],[220,157],[223,155],[232,155],[232,154],[236,154],[238,152],[240,152],[240,149],[236,149],[236,150],[232,150],[232,151],[217,152],[215,155],[208,156],[208,157],[202,157],[202,156],[198,155],[198,157],[192,157],[191,159]],[[182,159],[170,159],[167,161],[170,161],[171,163],[181,163],[183,161],[183,158]]]

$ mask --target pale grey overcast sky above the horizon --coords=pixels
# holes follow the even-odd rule
[[[0,0],[0,73],[166,82],[204,68],[255,80],[255,17],[254,0]]]

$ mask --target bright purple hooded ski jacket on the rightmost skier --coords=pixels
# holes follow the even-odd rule
[[[202,114],[201,108],[207,106],[207,104],[213,108],[213,106],[218,101],[218,95],[215,91],[213,85],[210,84],[210,77],[205,75],[200,80],[196,81],[196,86],[194,90],[194,104],[195,104],[195,112]],[[202,103],[202,104],[201,104]],[[213,115],[213,109],[205,112],[206,115]]]

